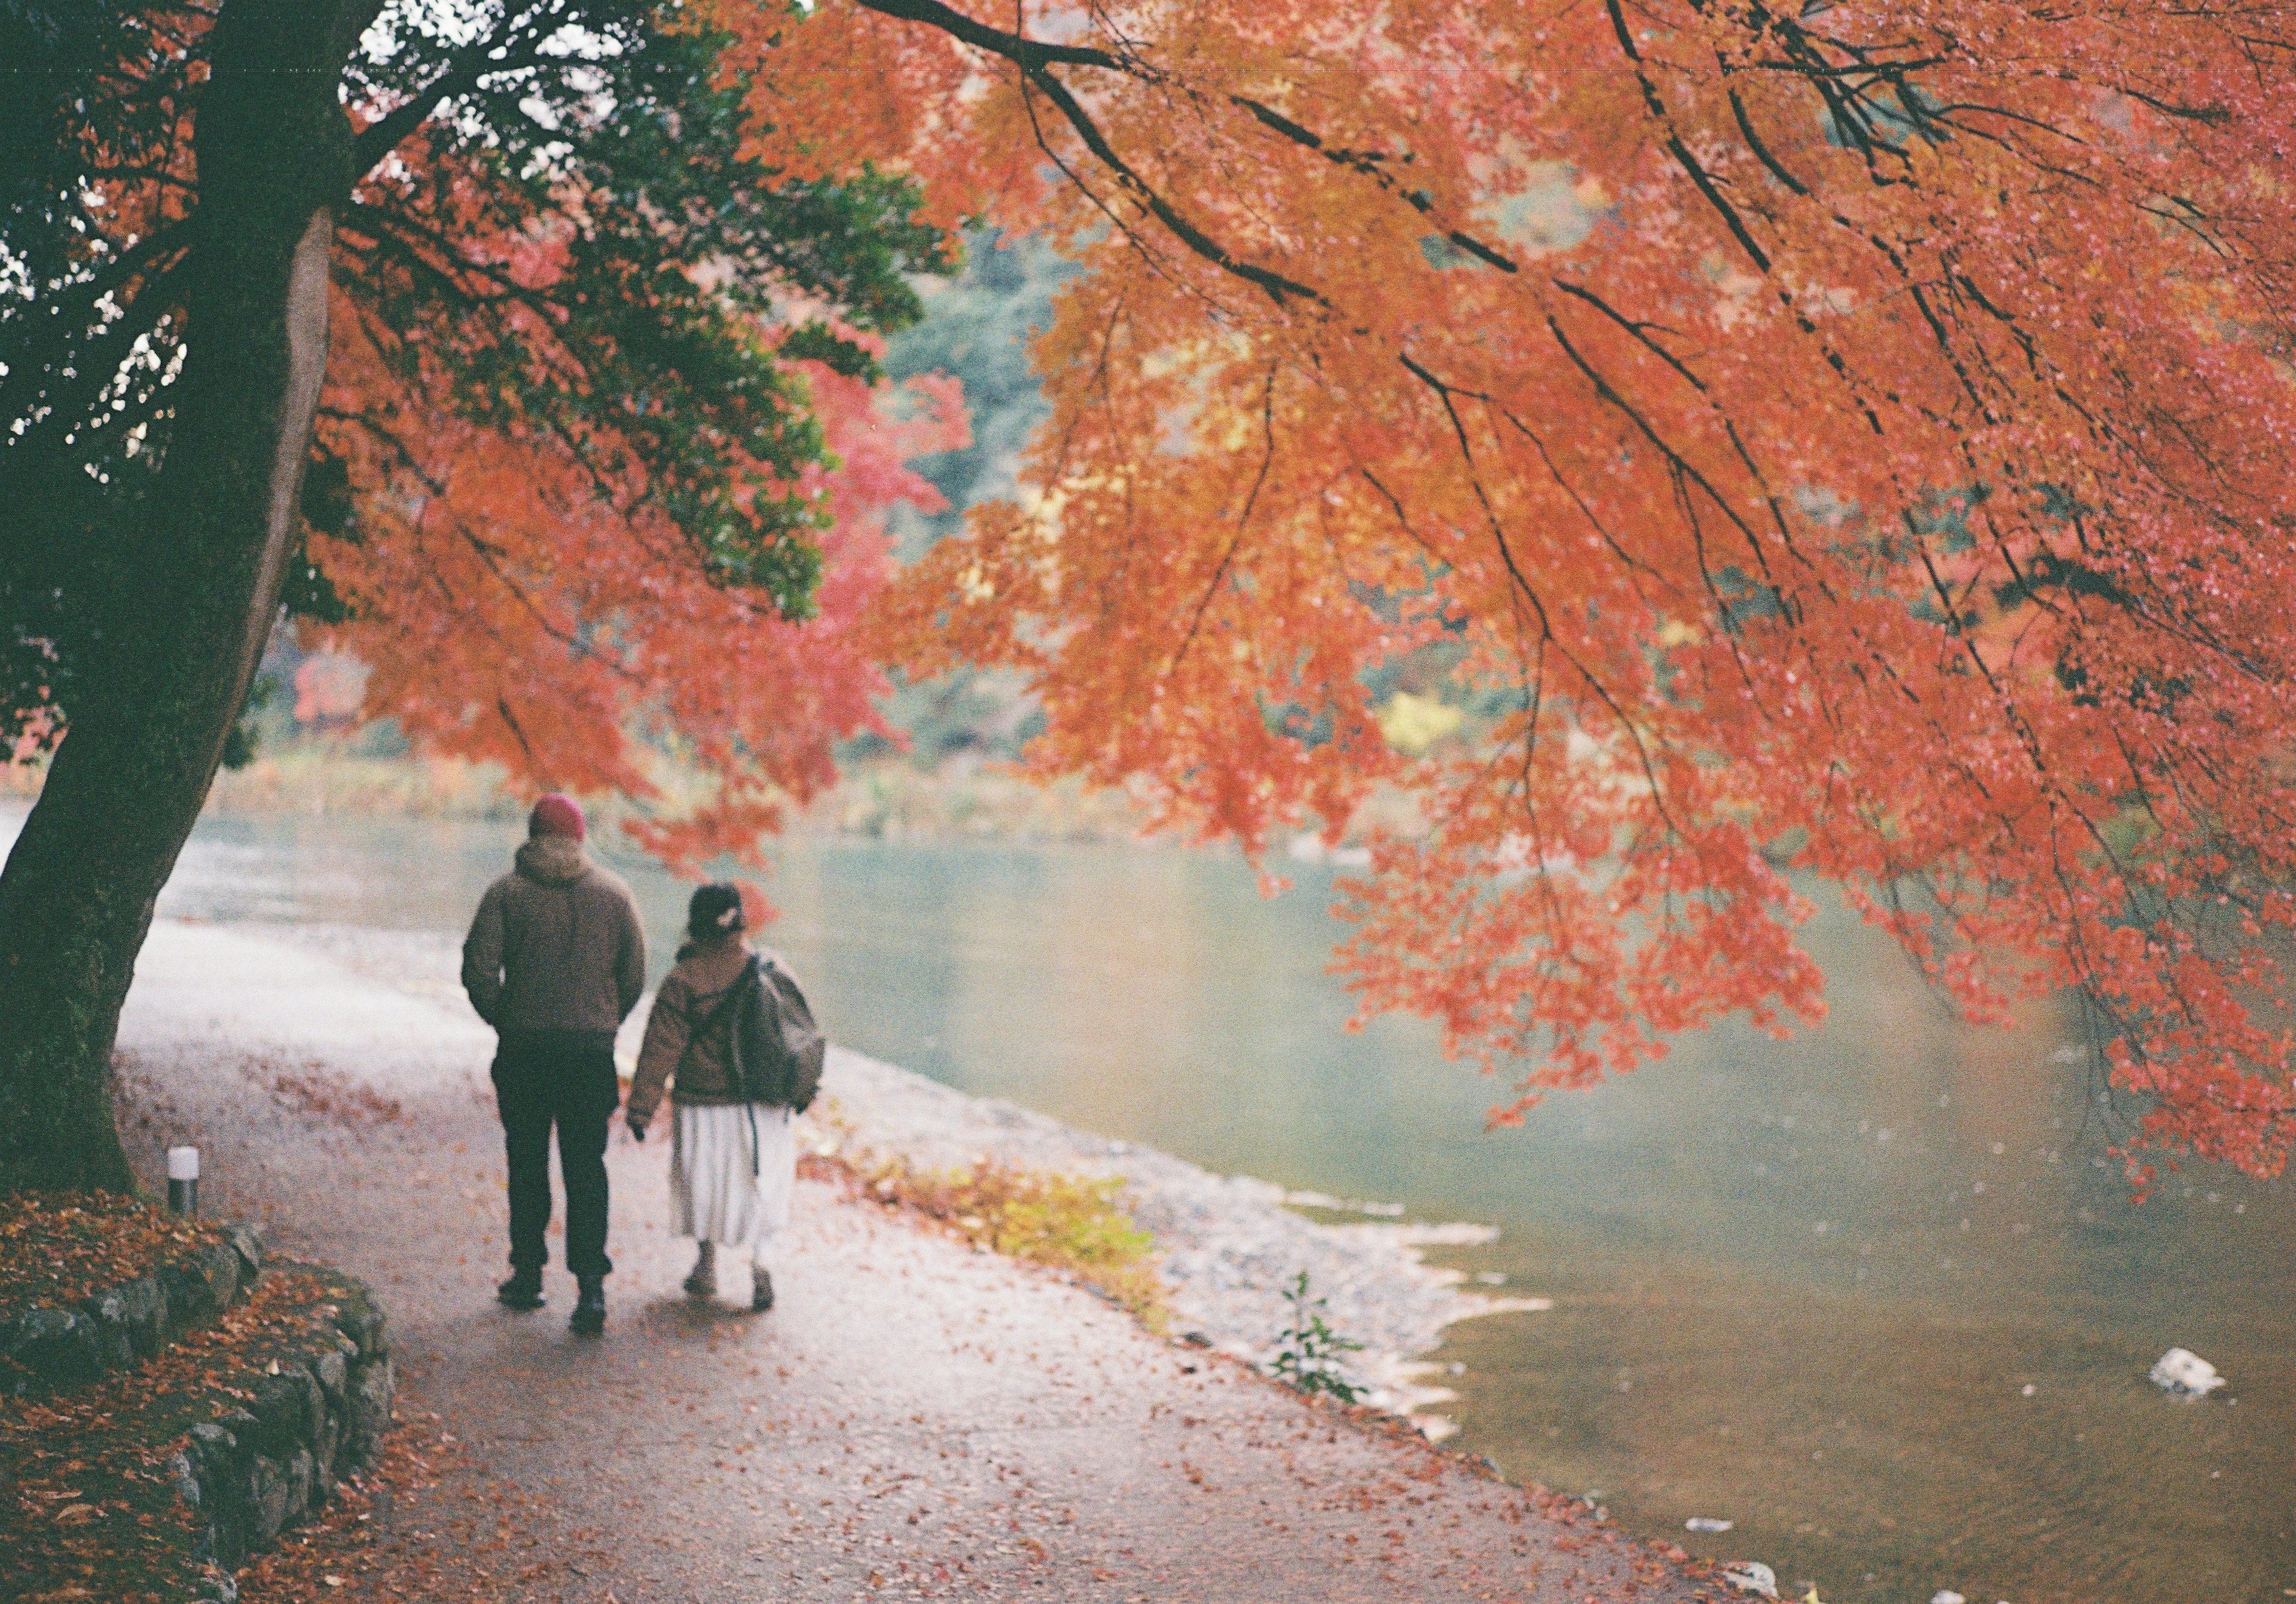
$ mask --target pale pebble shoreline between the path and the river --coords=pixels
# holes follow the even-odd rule
[[[241,924],[248,935],[303,947],[400,990],[461,1002],[459,940],[439,931],[374,931],[342,924]],[[636,1055],[641,1004],[618,1050]],[[1329,1326],[1362,1342],[1348,1374],[1368,1402],[1407,1413],[1433,1439],[1451,1434],[1435,1406],[1451,1393],[1430,1383],[1426,1363],[1446,1326],[1463,1319],[1543,1310],[1543,1298],[1472,1291],[1463,1271],[1426,1262],[1430,1248],[1492,1241],[1486,1225],[1417,1225],[1384,1218],[1391,1206],[1286,1193],[1256,1177],[1212,1174],[1153,1147],[1077,1131],[1001,1098],[978,1098],[861,1052],[831,1048],[824,1105],[845,1140],[914,1165],[960,1167],[983,1158],[1086,1177],[1116,1177],[1134,1223],[1157,1239],[1176,1333],[1199,1333],[1215,1349],[1265,1365],[1286,1326],[1283,1289],[1300,1271],[1325,1298]],[[831,1112],[831,1108],[824,1108]],[[833,1142],[831,1121],[806,1121],[815,1144]],[[1302,1213],[1309,1209],[1316,1216]],[[1398,1211],[1396,1211],[1398,1213]],[[1350,1218],[1355,1216],[1355,1218]]]

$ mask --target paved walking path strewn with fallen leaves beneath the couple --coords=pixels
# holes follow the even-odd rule
[[[556,1268],[510,1314],[491,1034],[448,974],[390,972],[344,933],[156,926],[124,1126],[138,1156],[204,1149],[209,1213],[377,1287],[402,1413],[468,1450],[393,1512],[411,1556],[501,1544],[535,1604],[1697,1597],[1609,1528],[827,1186],[799,1183],[781,1308],[696,1308],[666,1142],[608,1154],[606,1337],[567,1335]]]

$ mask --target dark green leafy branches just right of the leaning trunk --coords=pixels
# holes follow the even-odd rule
[[[416,5],[379,37],[354,74],[377,103],[478,51]],[[489,69],[406,147],[427,161],[381,170],[347,225],[379,345],[468,423],[556,441],[618,510],[666,515],[721,584],[808,616],[810,476],[833,457],[790,363],[875,379],[854,336],[914,322],[905,273],[946,271],[948,246],[905,179],[751,154],[728,37],[675,7],[510,9],[487,37]]]

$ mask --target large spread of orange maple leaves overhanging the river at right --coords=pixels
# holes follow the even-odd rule
[[[916,159],[1033,152],[1093,269],[907,662],[1254,848],[1407,774],[1343,967],[1534,1094],[1816,1018],[1812,871],[2282,1163],[2296,7],[856,2],[971,41]],[[1405,770],[1421,650],[1476,717]]]

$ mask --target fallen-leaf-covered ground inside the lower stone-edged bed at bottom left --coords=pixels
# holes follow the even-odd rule
[[[23,1604],[177,1604],[197,1528],[168,1459],[186,1434],[253,1397],[331,1287],[271,1268],[255,1294],[158,1358],[48,1399],[0,1399],[0,1597]]]

